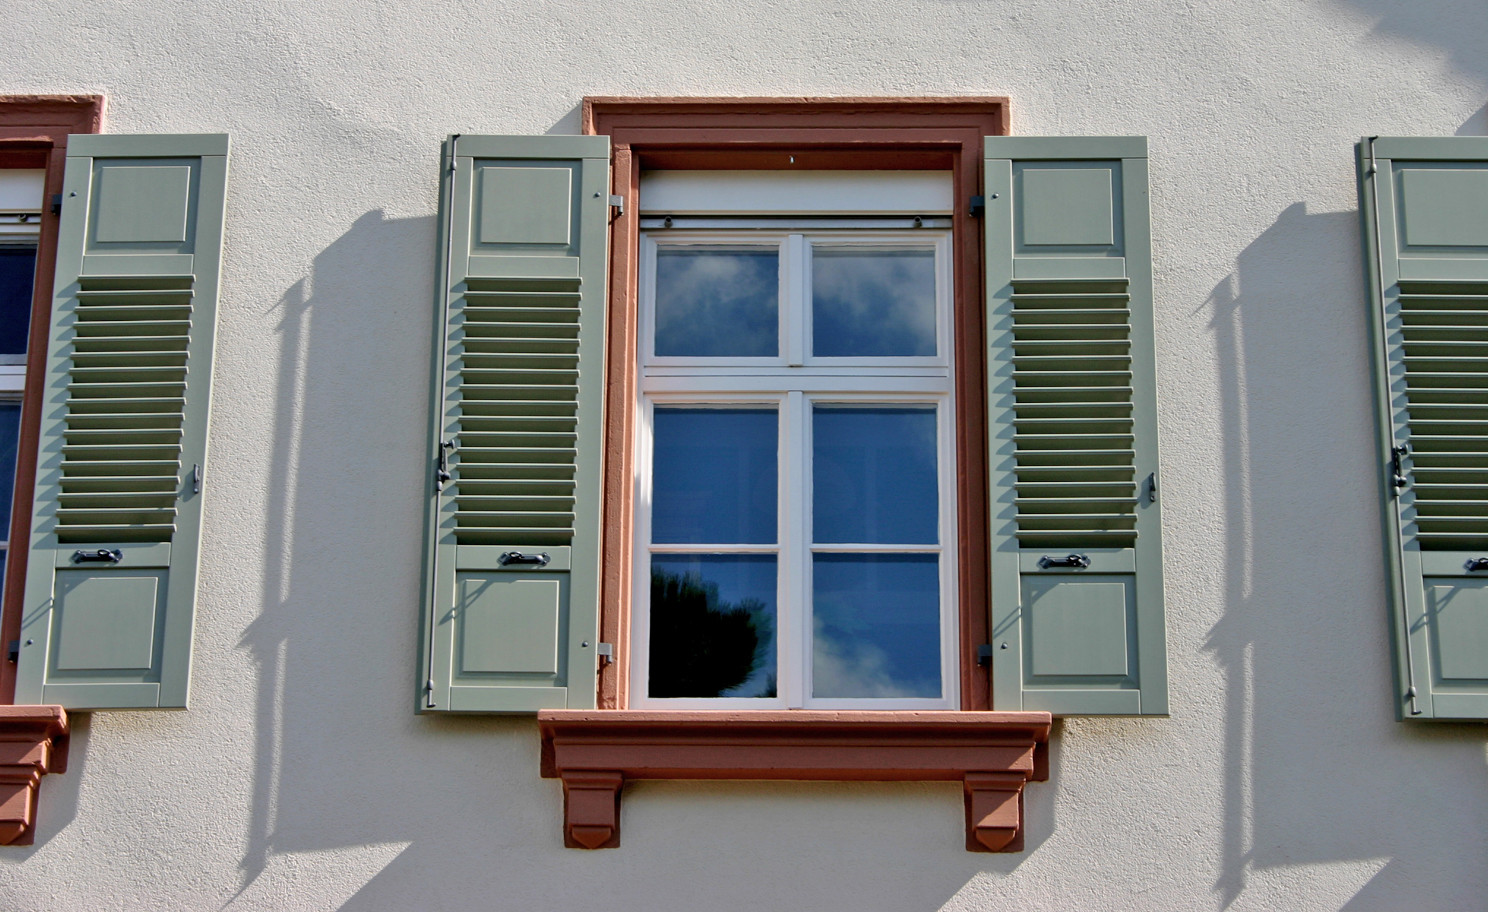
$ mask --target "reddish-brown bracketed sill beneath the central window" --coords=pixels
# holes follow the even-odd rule
[[[966,848],[1022,851],[1024,783],[1049,778],[1049,713],[543,710],[564,845],[620,844],[626,780],[960,781]]]

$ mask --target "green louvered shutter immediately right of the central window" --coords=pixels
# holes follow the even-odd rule
[[[992,705],[1164,716],[1147,141],[985,155]]]

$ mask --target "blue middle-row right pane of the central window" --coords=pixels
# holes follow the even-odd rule
[[[815,542],[937,543],[934,408],[817,406],[811,439]]]

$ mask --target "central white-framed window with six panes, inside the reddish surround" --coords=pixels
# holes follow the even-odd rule
[[[949,174],[832,173],[795,217],[689,177],[641,190],[632,702],[952,708]]]

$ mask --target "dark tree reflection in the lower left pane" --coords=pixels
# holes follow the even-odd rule
[[[698,573],[653,568],[650,625],[650,696],[775,696],[763,601],[723,601]]]

